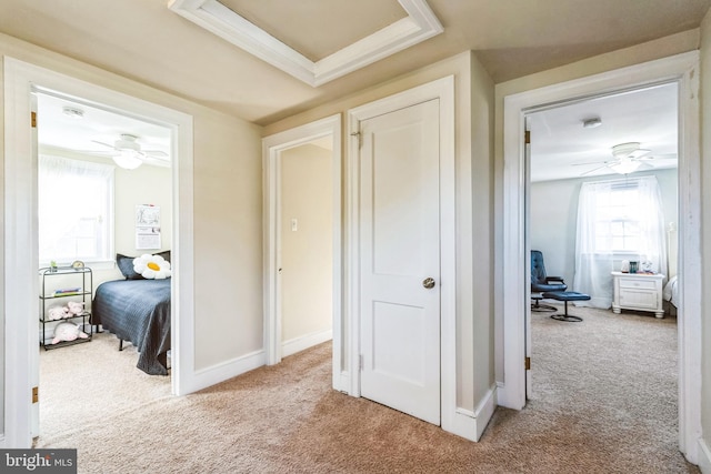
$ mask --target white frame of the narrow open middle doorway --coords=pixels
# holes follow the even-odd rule
[[[332,138],[333,181],[333,387],[340,390],[342,341],[341,115],[336,114],[262,139],[264,230],[264,352],[268,365],[281,362],[281,279],[279,278],[281,153],[323,137]]]

